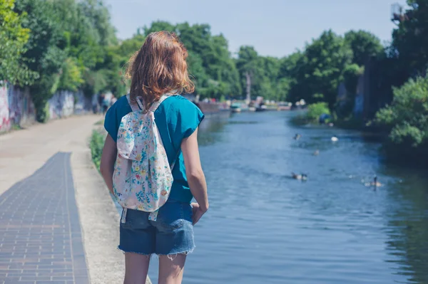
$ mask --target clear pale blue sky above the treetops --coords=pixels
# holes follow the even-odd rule
[[[395,27],[391,4],[405,0],[105,0],[117,36],[130,38],[138,27],[153,21],[208,23],[213,34],[223,33],[229,50],[254,46],[262,56],[290,55],[332,29],[374,33],[391,41]]]

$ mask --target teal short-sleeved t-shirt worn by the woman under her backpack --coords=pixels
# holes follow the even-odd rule
[[[124,95],[106,113],[104,127],[114,141],[117,139],[122,117],[131,111],[131,106]],[[193,102],[180,95],[166,98],[159,105],[155,111],[155,121],[170,164],[177,159],[183,139],[195,132],[203,117],[203,113]],[[185,176],[184,159],[181,152],[175,161],[173,178],[174,182],[168,200],[190,202],[193,196]]]

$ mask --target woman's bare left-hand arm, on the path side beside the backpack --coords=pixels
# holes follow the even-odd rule
[[[106,142],[104,142],[103,154],[101,154],[100,172],[111,194],[114,194],[113,171],[117,152],[116,142],[114,142],[110,135],[107,135]]]

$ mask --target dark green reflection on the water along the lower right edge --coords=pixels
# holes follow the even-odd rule
[[[428,283],[428,178],[422,171],[398,167],[384,172],[400,177],[389,191],[388,250],[401,256],[399,273],[408,275],[409,283]]]

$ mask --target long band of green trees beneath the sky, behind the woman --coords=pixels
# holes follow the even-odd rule
[[[392,48],[384,49],[367,31],[349,31],[343,37],[325,31],[285,58],[260,56],[251,46],[241,46],[233,58],[227,39],[213,34],[208,24],[156,21],[119,42],[102,0],[15,1],[0,4],[0,41],[7,43],[0,47],[0,79],[30,85],[40,121],[47,120],[46,102],[56,90],[83,90],[87,96],[126,93],[126,64],[153,31],[173,31],[183,41],[195,95],[224,100],[245,98],[249,91],[253,99],[326,102],[331,112],[342,104],[337,87],[345,82],[345,108],[336,110],[347,118],[364,70],[360,66],[371,63],[375,75],[370,88],[387,101],[384,94],[391,85],[422,73],[428,63],[426,0],[410,3],[411,16],[394,31]]]

